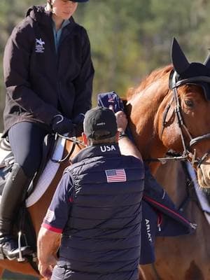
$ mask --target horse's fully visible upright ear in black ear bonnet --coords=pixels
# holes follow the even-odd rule
[[[171,58],[172,58],[172,64],[174,65],[174,70],[176,70],[176,72],[179,74],[186,71],[190,66],[188,59],[186,58],[183,51],[181,50],[178,41],[176,41],[176,38],[173,38],[172,41]]]

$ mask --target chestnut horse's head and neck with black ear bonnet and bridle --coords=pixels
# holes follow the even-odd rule
[[[210,188],[210,57],[189,63],[174,38],[172,64],[151,73],[128,98],[134,139],[145,145],[144,159],[169,149],[181,153],[197,169],[200,186]]]

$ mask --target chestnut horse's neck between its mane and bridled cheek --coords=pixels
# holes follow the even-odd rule
[[[127,102],[130,106],[130,127],[134,141],[144,160],[161,158],[167,152],[158,127],[158,118],[162,118],[160,107],[165,107],[169,99],[167,92],[167,83],[157,80]]]

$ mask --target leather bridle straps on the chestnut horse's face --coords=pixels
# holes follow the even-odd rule
[[[208,151],[207,153],[205,153],[202,158],[196,158],[196,149],[193,150],[193,153],[190,151],[190,148],[192,148],[192,146],[196,145],[197,143],[200,143],[201,141],[210,139],[210,133],[208,134],[204,134],[198,137],[194,137],[190,134],[188,127],[186,127],[184,121],[183,121],[183,116],[181,114],[181,105],[180,105],[180,101],[179,101],[179,94],[178,94],[178,87],[180,87],[181,85],[187,85],[187,84],[195,84],[199,82],[204,82],[204,83],[210,83],[210,77],[208,76],[195,76],[193,78],[186,78],[183,80],[177,80],[177,73],[176,71],[172,70],[172,72],[170,73],[169,76],[169,89],[172,90],[173,92],[173,96],[172,99],[169,101],[169,104],[167,105],[164,113],[163,113],[163,118],[162,118],[162,132],[165,130],[165,127],[167,125],[167,113],[170,109],[170,107],[172,106],[172,103],[175,103],[174,106],[174,113],[176,116],[176,120],[177,120],[177,124],[179,126],[179,132],[181,135],[181,142],[182,142],[182,146],[183,146],[183,153],[182,155],[176,155],[176,156],[170,156],[170,157],[166,157],[166,158],[151,158],[149,160],[149,162],[161,162],[162,164],[164,164],[165,162],[167,162],[168,160],[189,160],[191,165],[197,165],[197,167],[200,167],[200,165],[202,164],[202,162],[204,162],[204,160],[207,158],[207,156],[210,154],[210,151]],[[188,135],[188,138],[190,139],[189,144],[186,144],[186,139],[184,137],[184,132],[186,132],[186,134]]]

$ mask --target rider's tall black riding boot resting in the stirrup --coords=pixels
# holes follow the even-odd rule
[[[25,176],[22,167],[15,163],[3,188],[0,204],[0,251],[8,258],[18,258],[18,238],[13,237],[13,223],[30,179]],[[31,253],[29,246],[21,247],[22,255]]]

